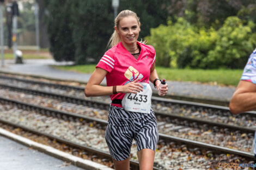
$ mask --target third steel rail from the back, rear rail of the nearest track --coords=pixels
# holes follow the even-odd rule
[[[7,99],[7,98],[4,98],[4,97],[0,97],[0,100],[3,100],[4,102],[8,102],[8,103],[14,103],[14,104],[17,105],[18,108],[36,110],[40,114],[45,114],[45,115],[48,115],[48,116],[50,116],[50,115],[53,115],[53,116],[60,115],[60,117],[62,117],[62,118],[64,116],[66,116],[66,117],[69,117],[69,119],[72,119],[72,118],[81,119],[82,118],[82,119],[84,119],[86,121],[89,121],[89,122],[93,121],[93,122],[99,123],[99,124],[104,125],[104,126],[107,125],[107,121],[97,119],[97,118],[92,118],[92,117],[88,117],[88,116],[74,114],[74,113],[66,112],[66,111],[65,112],[64,111],[59,111],[59,110],[51,109],[51,108],[45,108],[45,107],[42,107],[42,106],[28,104],[28,103],[25,103],[25,102],[21,102],[21,101],[14,100],[14,99]],[[200,150],[204,150],[204,149],[212,150],[212,153],[219,154],[219,153],[224,152],[224,153],[229,153],[229,154],[240,155],[240,156],[245,157],[245,158],[250,159],[250,160],[254,159],[253,154],[242,152],[240,150],[229,149],[229,148],[215,146],[215,145],[208,144],[208,143],[187,140],[187,139],[184,139],[184,138],[165,135],[165,134],[159,134],[159,138],[160,138],[160,140],[163,140],[163,141],[166,141],[166,142],[176,142],[178,144],[186,144],[186,146],[188,146],[192,149],[195,148],[195,147],[199,147]]]

